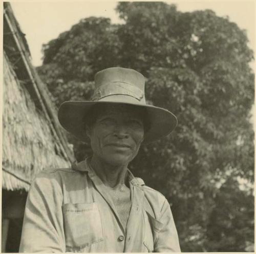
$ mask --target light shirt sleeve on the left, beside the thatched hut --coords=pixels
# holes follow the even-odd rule
[[[30,187],[19,252],[65,252],[62,192],[53,175],[39,173]]]

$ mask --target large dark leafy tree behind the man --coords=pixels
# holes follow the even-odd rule
[[[122,66],[147,79],[146,98],[178,117],[130,165],[172,205],[182,251],[253,251],[253,58],[236,23],[213,11],[120,2],[123,24],[85,18],[44,45],[38,68],[56,105],[89,99],[94,74]],[[89,147],[73,137],[78,160]]]

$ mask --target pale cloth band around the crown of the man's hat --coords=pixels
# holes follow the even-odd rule
[[[139,101],[144,97],[143,91],[132,84],[125,82],[111,82],[96,89],[91,100],[99,100],[114,94],[129,95]]]

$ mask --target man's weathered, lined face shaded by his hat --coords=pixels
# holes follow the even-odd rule
[[[112,165],[127,165],[143,141],[143,121],[134,108],[108,106],[87,128],[94,156]]]

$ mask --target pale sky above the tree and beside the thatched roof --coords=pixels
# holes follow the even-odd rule
[[[254,1],[165,1],[176,4],[182,12],[211,9],[218,16],[228,16],[241,29],[247,31],[249,47],[255,52],[255,5]],[[55,39],[62,32],[68,31],[80,19],[96,16],[109,17],[112,23],[122,22],[115,7],[117,2],[101,1],[51,1],[23,2],[12,1],[11,6],[17,21],[29,44],[32,63],[39,66],[42,63],[42,44]]]

